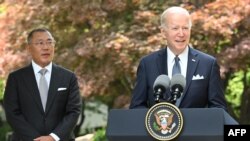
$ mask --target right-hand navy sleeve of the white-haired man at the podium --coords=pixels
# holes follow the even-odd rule
[[[209,81],[208,107],[223,108],[227,111],[226,100],[222,87],[219,65],[214,60]]]

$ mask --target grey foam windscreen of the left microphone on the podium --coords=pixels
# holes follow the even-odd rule
[[[168,89],[169,85],[170,85],[169,77],[165,74],[162,74],[156,78],[153,88],[154,88],[154,90],[156,90],[158,88],[166,90],[166,89]]]

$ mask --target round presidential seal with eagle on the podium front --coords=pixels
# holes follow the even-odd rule
[[[183,117],[178,107],[171,103],[161,102],[148,110],[145,124],[153,138],[170,141],[180,134]]]

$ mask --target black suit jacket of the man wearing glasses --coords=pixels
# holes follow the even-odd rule
[[[67,89],[58,91],[58,88]],[[9,74],[4,108],[14,130],[13,140],[33,141],[52,132],[63,141],[74,140],[73,129],[81,104],[76,76],[55,64],[52,65],[45,112],[32,65]]]

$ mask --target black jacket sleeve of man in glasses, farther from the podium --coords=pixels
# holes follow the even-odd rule
[[[21,107],[18,100],[18,85],[15,75],[10,74],[4,92],[4,109],[6,113],[6,119],[12,129],[23,138],[34,139],[40,134],[36,129],[30,125],[21,112]]]

